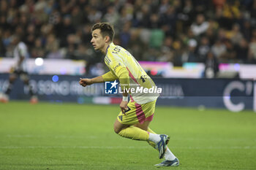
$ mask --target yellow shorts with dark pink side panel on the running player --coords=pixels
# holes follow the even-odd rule
[[[117,116],[117,120],[124,125],[142,124],[147,120],[151,121],[153,120],[156,102],[157,100],[146,104],[138,104],[131,100],[127,104],[127,111],[124,113],[120,112]]]

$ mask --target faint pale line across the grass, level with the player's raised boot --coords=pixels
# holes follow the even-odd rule
[[[145,147],[124,147],[124,146],[2,146],[0,149],[148,149]],[[171,149],[184,149],[184,150],[255,150],[256,146],[233,146],[233,147],[170,147]]]

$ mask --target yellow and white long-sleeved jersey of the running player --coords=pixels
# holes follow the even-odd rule
[[[102,78],[105,81],[118,79],[121,86],[119,91],[129,90],[128,93],[138,104],[155,101],[162,92],[138,61],[127,50],[114,45],[113,42],[106,50],[105,64],[110,72],[103,74]]]

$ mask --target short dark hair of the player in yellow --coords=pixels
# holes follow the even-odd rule
[[[111,26],[109,23],[95,23],[91,28],[91,32],[96,29],[100,29],[100,34],[102,34],[103,37],[109,36],[110,40],[113,41],[115,31],[113,26]]]

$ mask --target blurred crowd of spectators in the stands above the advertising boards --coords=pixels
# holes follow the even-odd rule
[[[97,22],[139,61],[256,63],[256,0],[1,0],[0,56],[12,35],[31,58],[101,59],[90,45]]]

